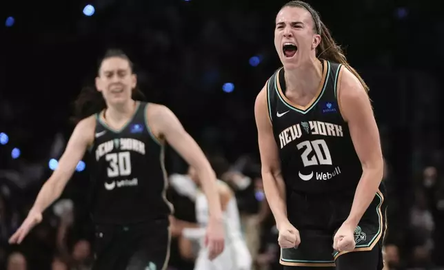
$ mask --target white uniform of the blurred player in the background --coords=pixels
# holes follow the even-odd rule
[[[229,188],[222,181],[218,181],[223,188]],[[196,220],[199,229],[183,229],[183,236],[193,240],[199,240],[199,255],[194,264],[194,270],[250,270],[252,258],[247,245],[243,240],[241,231],[241,219],[237,208],[236,198],[232,196],[223,212],[225,226],[225,248],[221,255],[214,260],[208,259],[208,249],[204,245],[205,228],[210,218],[208,201],[201,191],[196,194]]]

